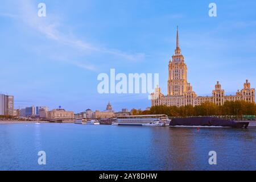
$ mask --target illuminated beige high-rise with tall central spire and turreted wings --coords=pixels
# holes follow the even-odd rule
[[[212,102],[217,105],[223,105],[225,101],[244,100],[255,103],[255,89],[250,88],[250,82],[246,80],[243,89],[237,90],[234,96],[225,96],[225,91],[221,89],[221,84],[217,81],[212,96],[197,96],[193,91],[191,84],[187,81],[187,65],[184,56],[181,54],[179,46],[179,30],[177,28],[176,48],[172,60],[168,65],[168,91],[167,96],[161,93],[160,88],[156,88],[151,94],[151,106],[185,106],[200,105],[203,102]]]

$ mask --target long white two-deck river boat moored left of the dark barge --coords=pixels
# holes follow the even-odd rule
[[[170,119],[165,114],[123,115],[117,117],[113,125],[129,126],[169,126]]]

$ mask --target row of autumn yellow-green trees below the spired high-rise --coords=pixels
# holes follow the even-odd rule
[[[192,106],[152,106],[150,110],[131,110],[133,115],[142,114],[166,114],[168,117],[189,117],[209,115],[256,115],[256,105],[246,101],[226,101],[219,106],[211,102],[204,102],[201,105]]]

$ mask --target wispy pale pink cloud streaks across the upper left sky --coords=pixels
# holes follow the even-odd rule
[[[97,46],[88,42],[85,42],[79,38],[74,38],[61,31],[59,27],[65,27],[61,24],[61,21],[54,17],[54,15],[48,15],[47,17],[40,18],[38,16],[37,5],[32,3],[30,0],[19,0],[19,13],[18,14],[0,14],[2,16],[7,16],[9,18],[15,18],[22,20],[26,26],[38,31],[40,34],[46,36],[47,39],[53,40],[63,46],[69,46],[77,49],[77,51],[84,51],[89,53],[100,53],[106,55],[112,55],[120,57],[122,60],[127,61],[137,61],[144,59],[144,53],[127,53],[120,51],[118,49],[105,48],[102,46]],[[76,37],[76,36],[75,36]],[[79,61],[67,61],[63,62],[73,63],[77,67],[95,70],[96,65],[85,63],[84,61],[80,63]]]

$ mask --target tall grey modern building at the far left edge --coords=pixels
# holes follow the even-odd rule
[[[0,115],[13,115],[14,96],[0,94]]]

